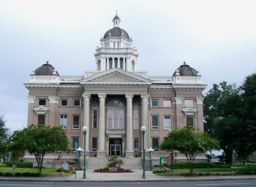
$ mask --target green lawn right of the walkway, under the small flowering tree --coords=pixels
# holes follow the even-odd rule
[[[194,173],[221,173],[231,171],[256,171],[256,166],[237,166],[238,168],[209,168],[209,169],[193,169]],[[173,173],[189,173],[189,169],[174,169]],[[164,173],[155,173],[156,175],[165,175]]]

